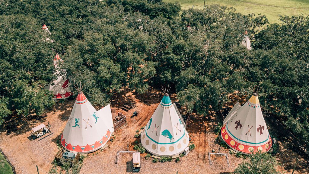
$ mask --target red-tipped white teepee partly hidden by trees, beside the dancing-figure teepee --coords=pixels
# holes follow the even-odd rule
[[[59,75],[59,71],[57,69],[58,63],[62,60],[59,57],[59,54],[57,54],[54,58],[54,68],[55,68],[55,74]],[[49,83],[44,87],[44,89],[53,91],[54,98],[56,99],[65,99],[69,98],[72,95],[72,92],[69,88],[70,86],[69,79],[63,78],[62,76],[58,76],[56,80]]]

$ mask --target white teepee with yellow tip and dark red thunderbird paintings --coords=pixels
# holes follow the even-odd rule
[[[272,146],[257,94],[241,107],[237,102],[223,121],[221,137],[233,150],[243,154],[267,152]]]

